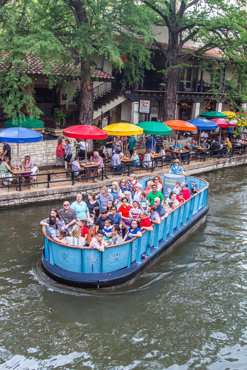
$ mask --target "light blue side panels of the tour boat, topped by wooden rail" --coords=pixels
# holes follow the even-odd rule
[[[143,231],[141,238],[108,246],[104,252],[100,252],[89,247],[65,246],[54,242],[47,236],[43,226],[44,258],[51,265],[80,273],[111,272],[130,268],[134,263],[141,263],[142,255],[150,255],[152,248],[159,248],[160,240],[166,241],[172,237],[174,229],[180,230],[183,225],[186,225],[187,220],[193,219],[195,213],[206,207],[208,183],[200,178],[186,176],[188,177],[197,183],[196,194],[169,213],[159,225],[153,224],[153,231]]]

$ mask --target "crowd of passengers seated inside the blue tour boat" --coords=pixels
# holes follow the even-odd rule
[[[157,188],[160,190],[162,189],[161,179],[159,176],[154,176],[153,180],[154,182],[150,180],[147,182],[147,187],[150,187],[147,194],[141,191],[140,183],[136,183],[132,180],[132,185],[134,184],[138,189],[136,192],[133,191],[131,194],[131,191],[126,190],[124,193],[118,193],[119,186],[114,182],[111,190],[117,193],[117,198],[114,196],[115,201],[109,199],[107,203],[105,203],[106,208],[100,208],[99,203],[96,201],[96,199],[99,199],[99,196],[90,192],[87,202],[89,202],[91,206],[97,204],[93,208],[93,215],[90,215],[93,216],[93,218],[91,218],[91,223],[88,219],[78,219],[78,217],[76,218],[76,215],[74,215],[71,216],[71,218],[74,218],[74,225],[71,225],[73,228],[66,228],[69,224],[66,225],[59,214],[59,212],[63,212],[64,215],[66,215],[64,209],[58,212],[55,208],[52,208],[50,210],[50,217],[42,220],[40,225],[47,226],[47,235],[53,238],[54,241],[61,242],[64,245],[69,244],[75,246],[85,246],[89,228],[94,227],[96,235],[92,238],[89,247],[97,248],[101,251],[103,251],[107,245],[120,244],[134,237],[140,238],[142,231],[153,230],[151,222],[160,223],[173,211],[173,209],[179,206],[180,203],[190,198],[188,184],[184,183],[180,187],[180,183],[176,182],[173,191],[167,199],[164,200],[162,192],[157,190]],[[123,184],[123,181],[121,182]],[[138,188],[138,185],[140,185],[140,188]],[[103,196],[111,194],[111,190],[108,191],[106,186],[104,186],[103,190]],[[137,194],[138,200],[133,200],[132,196],[135,199]],[[69,202],[64,201],[64,208],[67,208],[67,206],[70,207]],[[71,209],[67,208],[67,212],[69,210]],[[126,231],[124,238],[121,235],[122,229]]]

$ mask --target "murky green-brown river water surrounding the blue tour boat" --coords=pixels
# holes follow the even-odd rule
[[[1,210],[0,369],[246,370],[247,166],[201,177],[206,222],[113,291],[44,275],[50,205]]]

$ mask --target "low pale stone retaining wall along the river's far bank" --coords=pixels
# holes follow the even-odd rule
[[[247,154],[232,157],[232,158],[222,158],[216,161],[206,161],[191,163],[190,165],[184,165],[184,172],[186,175],[197,176],[203,172],[215,171],[217,169],[237,167],[247,164]],[[160,172],[155,171],[153,174],[151,172],[143,172],[141,175],[137,175],[136,178],[140,179],[149,176],[150,178],[154,175],[165,174],[168,169]],[[121,176],[120,176],[121,177]],[[15,208],[19,206],[28,206],[37,203],[56,203],[61,202],[64,199],[75,199],[76,194],[80,192],[85,198],[89,191],[94,191],[96,194],[100,192],[101,186],[105,185],[111,187],[112,181],[119,181],[120,177],[114,176],[114,178],[109,180],[104,180],[104,182],[99,181],[97,184],[80,184],[80,185],[69,185],[69,186],[58,186],[56,188],[49,189],[34,189],[32,191],[21,191],[21,192],[11,192],[7,194],[2,194],[0,197],[0,208]],[[78,184],[78,182],[76,183]]]

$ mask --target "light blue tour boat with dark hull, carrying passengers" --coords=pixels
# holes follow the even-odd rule
[[[158,259],[164,258],[165,252],[170,251],[205,221],[208,212],[208,182],[193,176],[159,176],[164,184],[165,199],[179,178],[188,183],[193,194],[169,213],[160,225],[153,224],[153,231],[143,231],[141,238],[108,246],[104,252],[54,242],[47,236],[43,226],[41,264],[46,274],[59,283],[75,287],[117,287],[134,282],[141,272]],[[143,184],[143,189],[147,180],[149,178],[138,180]]]

